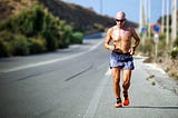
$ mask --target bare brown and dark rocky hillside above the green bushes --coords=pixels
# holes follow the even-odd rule
[[[62,2],[60,0],[0,0],[0,21],[18,14],[24,9],[30,9],[33,2],[40,2],[61,20],[66,20],[68,24],[73,26],[75,30],[91,33],[115,24],[113,18],[100,16],[87,8]],[[138,27],[135,22],[129,22],[134,27]]]

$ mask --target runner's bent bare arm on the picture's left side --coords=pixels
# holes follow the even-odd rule
[[[105,48],[107,48],[108,50],[115,50],[115,46],[110,46],[109,42],[111,41],[111,28],[108,29],[107,31],[107,37],[106,37],[106,40],[105,40]]]

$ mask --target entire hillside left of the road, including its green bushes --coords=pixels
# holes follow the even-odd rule
[[[113,18],[59,0],[0,0],[0,57],[67,48],[115,24]]]

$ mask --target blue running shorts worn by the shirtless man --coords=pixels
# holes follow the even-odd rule
[[[134,59],[130,53],[112,51],[110,55],[110,68],[120,68],[123,70],[134,70]]]

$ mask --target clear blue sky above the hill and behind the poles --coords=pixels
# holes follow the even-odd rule
[[[109,17],[115,17],[117,11],[125,11],[126,18],[128,20],[138,23],[140,21],[139,20],[140,0],[62,0],[62,1],[80,4],[85,8],[91,7],[97,13],[106,14]],[[169,13],[171,12],[171,1],[172,0],[169,0]],[[162,0],[150,0],[151,23],[156,23],[157,20],[161,17],[162,14],[161,7],[162,7]],[[165,9],[165,14],[167,14],[166,9]]]

